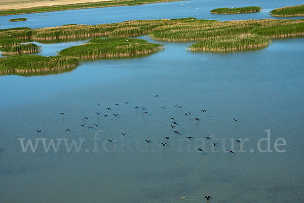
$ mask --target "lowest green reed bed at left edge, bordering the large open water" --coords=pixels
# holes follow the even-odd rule
[[[17,55],[0,58],[0,73],[39,72],[67,69],[79,64],[77,58],[39,55]]]

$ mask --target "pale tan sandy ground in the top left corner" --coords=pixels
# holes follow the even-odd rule
[[[5,1],[1,2],[1,10],[8,9],[24,9],[32,7],[41,7],[41,6],[57,6],[57,5],[66,5],[66,4],[80,4],[80,3],[92,3],[92,2],[110,2],[110,1],[120,1],[120,0],[55,0],[55,1]]]

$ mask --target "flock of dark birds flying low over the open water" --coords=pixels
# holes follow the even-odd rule
[[[159,97],[160,95],[155,95],[155,97]],[[126,104],[126,105],[128,105],[130,102],[125,102],[124,104]],[[98,105],[98,107],[100,107],[100,105],[101,104],[99,104],[99,103],[97,103],[97,105]],[[115,106],[119,106],[119,104],[115,104]],[[182,109],[183,108],[183,106],[178,106],[178,104],[177,105],[174,105],[174,107],[175,108],[179,108],[179,109]],[[164,107],[161,107],[162,109],[165,109],[166,108],[166,106],[164,106]],[[134,107],[134,109],[139,109],[139,107],[138,106],[135,106]],[[108,108],[106,108],[106,110],[111,110],[111,108],[110,107],[108,107]],[[142,114],[149,114],[147,111],[146,111],[146,108],[142,108]],[[201,112],[203,112],[203,113],[205,113],[205,112],[207,112],[206,110],[201,110]],[[101,112],[95,112],[98,116],[101,114]],[[64,112],[61,112],[60,113],[62,116],[64,115]],[[183,115],[184,116],[191,116],[191,114],[192,114],[192,112],[186,112],[186,113],[183,113]],[[112,114],[113,116],[115,116],[115,117],[117,117],[119,114]],[[104,115],[103,117],[108,117],[109,115]],[[88,117],[84,117],[83,118],[83,121],[84,121],[84,123],[83,124],[80,124],[82,127],[84,127],[85,126],[85,124],[86,124],[86,121],[88,120],[89,118]],[[170,125],[170,127],[171,127],[171,129],[173,129],[173,128],[175,128],[176,126],[178,126],[178,123],[175,121],[175,119],[174,118],[170,118],[170,120],[171,120],[171,125]],[[200,119],[199,118],[195,118],[194,120],[196,120],[196,121],[199,121]],[[234,119],[233,118],[233,120],[236,122],[236,121],[238,121],[239,119]],[[94,125],[95,125],[95,127],[97,127],[98,125],[99,125],[99,123],[93,123]],[[91,128],[93,128],[93,126],[89,126],[88,127],[88,129],[91,129]],[[67,132],[67,131],[71,131],[70,129],[66,129],[65,130],[65,132]],[[41,130],[36,130],[36,132],[37,133],[39,133],[39,132],[41,132]],[[180,132],[178,131],[178,130],[174,130],[173,131],[174,133],[176,133],[176,134],[180,134]],[[125,136],[125,134],[126,134],[126,132],[121,132],[121,134],[123,135],[123,136]],[[194,139],[194,137],[192,137],[192,136],[189,136],[189,137],[186,137],[187,139]],[[212,140],[212,138],[210,138],[210,137],[205,137],[207,140]],[[165,137],[165,139],[166,140],[170,140],[170,138],[169,137]],[[107,139],[110,143],[113,141],[113,139]],[[150,140],[145,140],[145,142],[146,143],[150,143],[151,141]],[[236,140],[236,142],[238,142],[238,143],[241,143],[241,141],[240,140]],[[212,142],[213,143],[213,146],[216,146],[217,144],[219,144],[219,143],[214,143],[214,142]],[[161,145],[163,145],[163,146],[165,146],[165,145],[168,145],[168,143],[166,143],[166,142],[162,142],[161,143]],[[204,149],[201,149],[201,148],[199,148],[198,149],[198,151],[200,151],[200,152],[203,152],[204,153]],[[230,153],[235,153],[235,152],[233,152],[232,150],[226,150],[227,152],[230,152]]]

